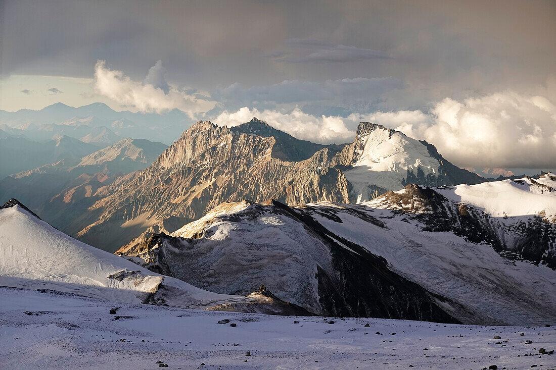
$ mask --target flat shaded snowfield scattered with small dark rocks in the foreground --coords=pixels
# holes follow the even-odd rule
[[[556,348],[554,327],[197,311],[6,287],[0,337],[10,369],[556,368],[539,354]]]

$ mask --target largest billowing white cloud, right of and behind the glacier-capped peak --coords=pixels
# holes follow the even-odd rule
[[[505,91],[361,118],[425,139],[460,167],[556,167],[556,107],[545,97]]]

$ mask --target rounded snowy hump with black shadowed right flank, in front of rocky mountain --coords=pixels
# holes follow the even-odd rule
[[[172,236],[155,234],[117,253],[219,293],[246,294],[262,283],[325,316],[456,321],[445,312],[449,300],[392,272],[310,213],[277,202],[224,203]]]

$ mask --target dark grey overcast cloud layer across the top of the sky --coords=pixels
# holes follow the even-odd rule
[[[554,1],[3,4],[4,75],[91,77],[106,60],[142,81],[161,60],[166,75],[151,77],[166,90],[162,81],[214,91],[393,77],[405,88],[385,107],[508,88],[556,98]]]

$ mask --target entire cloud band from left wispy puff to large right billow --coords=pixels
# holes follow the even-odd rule
[[[94,86],[98,93],[141,112],[181,109],[191,117],[212,119],[216,124],[236,126],[252,117],[294,137],[317,143],[346,143],[353,140],[359,122],[369,121],[397,129],[410,137],[436,146],[450,161],[464,167],[553,168],[556,158],[556,106],[542,96],[525,96],[504,91],[461,100],[445,98],[433,102],[429,111],[351,112],[346,117],[314,115],[297,103],[331,101],[335,96],[351,97],[365,92],[401,88],[392,78],[358,78],[312,83],[284,81],[272,86],[243,88],[232,84],[217,90],[220,104],[246,104],[219,114],[207,114],[210,99],[180,91],[166,82],[162,62],[156,62],[145,81],[133,81],[122,71],[112,71],[105,61],[95,66]],[[258,109],[255,104],[272,103],[274,108]],[[296,103],[291,109],[280,104]],[[199,114],[202,113],[202,114]]]

